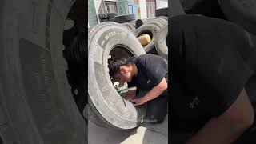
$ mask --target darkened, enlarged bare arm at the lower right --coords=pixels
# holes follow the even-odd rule
[[[211,118],[186,144],[230,144],[254,122],[254,109],[242,90],[236,101],[218,118]]]

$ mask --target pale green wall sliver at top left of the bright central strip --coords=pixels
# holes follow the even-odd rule
[[[89,26],[98,24],[98,18],[95,11],[94,0],[88,0],[88,22]]]

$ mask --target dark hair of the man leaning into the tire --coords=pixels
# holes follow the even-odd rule
[[[128,66],[129,63],[134,63],[134,57],[129,58],[110,58],[109,59],[109,69],[110,77],[120,72],[120,66]]]

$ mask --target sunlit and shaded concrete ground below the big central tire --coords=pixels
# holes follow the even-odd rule
[[[134,130],[113,130],[88,122],[89,144],[168,143],[168,115],[160,124],[145,123]]]

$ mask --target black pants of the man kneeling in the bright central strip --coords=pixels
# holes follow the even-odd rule
[[[167,90],[154,98],[153,100],[146,102],[146,119],[145,122],[162,122],[167,114],[168,92]]]

